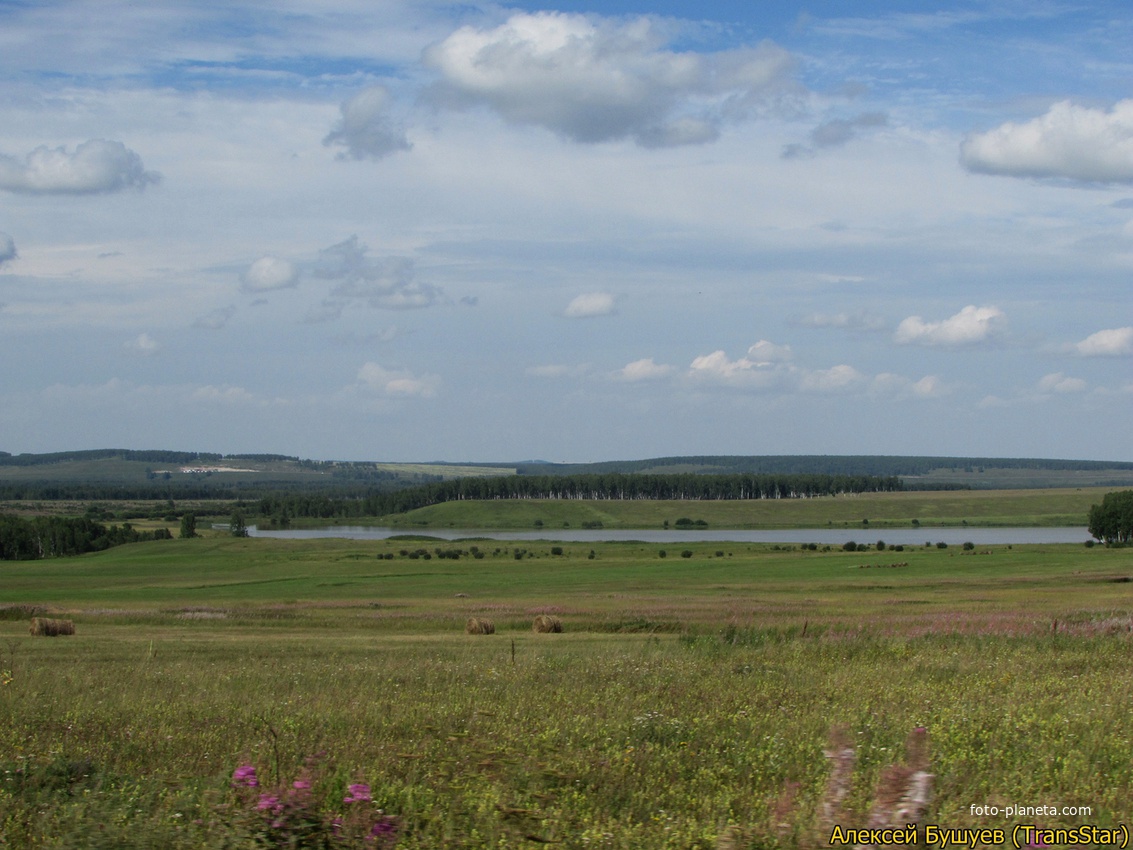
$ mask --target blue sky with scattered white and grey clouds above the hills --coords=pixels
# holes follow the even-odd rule
[[[0,0],[0,450],[1133,460],[1126,0]]]

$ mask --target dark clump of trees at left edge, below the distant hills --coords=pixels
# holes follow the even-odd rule
[[[139,532],[129,522],[105,526],[87,517],[31,517],[0,515],[0,560],[35,561],[100,552],[123,543],[169,539],[169,530]]]

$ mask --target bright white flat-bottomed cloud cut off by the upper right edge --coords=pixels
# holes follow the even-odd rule
[[[964,139],[970,171],[1008,177],[1062,177],[1088,182],[1133,181],[1133,100],[1110,110],[1054,104],[1025,124],[1004,124]]]

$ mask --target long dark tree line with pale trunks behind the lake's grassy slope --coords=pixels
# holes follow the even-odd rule
[[[380,517],[442,502],[496,499],[748,500],[807,499],[900,491],[896,476],[867,475],[510,475],[457,478],[358,499],[318,493],[273,493],[258,502],[264,517]]]

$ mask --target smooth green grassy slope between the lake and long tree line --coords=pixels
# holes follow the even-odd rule
[[[825,528],[828,525],[871,528],[921,525],[1084,526],[1091,504],[1109,492],[1082,490],[913,491],[862,493],[821,499],[746,502],[663,501],[468,501],[446,502],[404,515],[381,518],[403,528],[661,528],[679,518],[704,519],[712,528]]]

